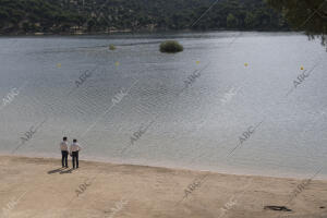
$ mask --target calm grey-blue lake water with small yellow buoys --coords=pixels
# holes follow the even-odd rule
[[[166,39],[184,51],[160,53]],[[318,40],[211,32],[0,37],[0,48],[2,154],[59,157],[66,135],[82,159],[327,175]]]

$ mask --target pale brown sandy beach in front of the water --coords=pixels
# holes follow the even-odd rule
[[[60,167],[59,159],[0,156],[0,217],[327,217],[327,181],[92,161]]]

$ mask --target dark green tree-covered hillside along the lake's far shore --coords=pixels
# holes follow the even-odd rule
[[[210,8],[215,1],[0,0],[0,33],[288,29],[281,13],[270,9],[266,0],[221,0]]]

